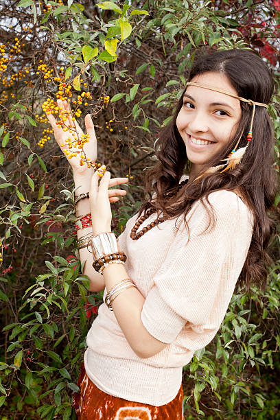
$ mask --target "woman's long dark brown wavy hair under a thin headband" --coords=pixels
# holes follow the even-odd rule
[[[188,81],[208,71],[226,75],[237,91],[237,95],[255,102],[268,104],[274,91],[272,74],[266,63],[250,51],[231,49],[200,55],[194,61]],[[185,143],[176,127],[176,118],[183,106],[184,93],[185,91],[178,100],[170,124],[163,128],[156,141],[155,154],[158,163],[148,170],[145,176],[147,198],[139,209],[138,217],[142,213],[145,214],[148,209],[154,208],[158,215],[163,212],[169,218],[178,218],[179,215],[183,215],[185,226],[187,226],[187,213],[196,200],[202,199],[209,214],[209,224],[213,222],[214,226],[215,215],[208,200],[209,194],[220,189],[239,191],[242,200],[253,212],[254,227],[252,241],[238,284],[246,285],[248,290],[252,283],[264,287],[270,263],[267,248],[275,230],[275,222],[270,211],[275,202],[277,189],[277,176],[273,167],[275,140],[268,110],[262,106],[256,106],[253,141],[248,145],[241,163],[234,170],[222,174],[220,171],[214,172],[199,180],[190,180],[178,189],[181,176],[189,171],[191,164],[187,158]],[[250,126],[252,106],[241,102],[241,108],[242,116],[233,139],[224,147],[224,150],[205,164],[203,171],[211,166],[219,165],[234,148],[242,132],[244,134],[239,147],[247,144],[246,135]],[[156,193],[155,200],[151,200],[153,190]],[[166,193],[175,191],[177,194],[168,198]]]

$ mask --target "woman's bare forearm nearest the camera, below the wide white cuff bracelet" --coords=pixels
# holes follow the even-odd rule
[[[110,264],[104,268],[103,277],[108,292],[118,281],[128,278],[128,273],[123,264]],[[149,358],[163,350],[166,345],[151,336],[143,326],[141,311],[144,301],[145,298],[137,288],[130,288],[114,299],[112,307],[132,350],[140,358]]]

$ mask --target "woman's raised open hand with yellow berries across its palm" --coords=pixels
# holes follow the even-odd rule
[[[58,100],[58,108],[60,110],[60,115],[63,113],[71,112],[69,103],[67,101]],[[78,147],[73,147],[75,141],[77,141],[77,139],[79,141],[82,140],[84,136],[84,132],[82,131],[82,128],[80,128],[78,122],[75,119],[72,119],[71,115],[67,116],[64,124],[69,128],[69,130],[64,131],[62,128],[60,128],[60,126],[58,126],[58,121],[56,121],[56,117],[54,117],[54,115],[47,113],[47,119],[49,119],[51,127],[54,130],[54,137],[60,146],[60,149],[69,161],[74,174],[84,174],[84,172],[86,172],[88,169],[87,165],[80,165],[80,153],[75,155],[75,150],[81,149],[78,149]],[[86,135],[88,135],[89,141],[84,143],[83,149],[86,154],[86,158],[89,158],[93,163],[95,163],[97,159],[97,140],[91,115],[86,115],[84,122],[86,126]],[[72,149],[68,148],[69,139],[71,139]]]

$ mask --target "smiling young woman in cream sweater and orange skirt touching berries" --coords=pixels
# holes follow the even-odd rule
[[[156,142],[149,198],[117,241],[110,202],[126,191],[108,187],[127,178],[105,172],[100,180],[71,159],[77,216],[89,213],[78,230],[80,259],[90,290],[104,290],[75,395],[78,419],[182,419],[183,366],[215,336],[237,280],[266,283],[276,188],[272,93],[255,54],[200,56]],[[65,132],[49,120],[61,145]],[[86,154],[95,161],[89,115],[85,122]]]

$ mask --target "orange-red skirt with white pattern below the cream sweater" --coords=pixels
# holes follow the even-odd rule
[[[86,375],[84,364],[78,380],[80,393],[74,393],[74,408],[78,420],[182,420],[183,387],[170,403],[164,406],[150,406],[113,397],[97,388]]]

